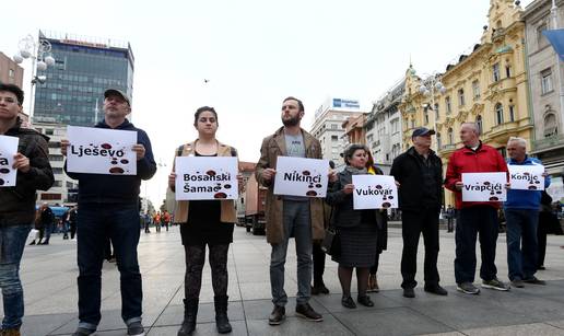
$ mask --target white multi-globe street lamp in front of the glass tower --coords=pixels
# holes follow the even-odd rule
[[[14,55],[13,60],[22,63],[24,59],[32,60],[32,81],[30,84],[30,124],[33,123],[33,104],[34,104],[34,86],[36,83],[45,83],[46,76],[37,76],[37,71],[45,71],[47,67],[55,65],[55,58],[50,54],[51,44],[47,39],[36,42],[32,35],[27,35],[20,39],[17,44],[19,51]]]

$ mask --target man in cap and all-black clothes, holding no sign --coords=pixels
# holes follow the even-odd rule
[[[443,162],[431,150],[431,136],[435,131],[425,127],[413,130],[413,146],[400,154],[391,165],[390,175],[399,184],[398,196],[401,209],[401,276],[403,297],[414,298],[415,273],[418,268],[418,245],[423,233],[425,243],[426,292],[447,296],[438,285],[438,213],[443,201]]]

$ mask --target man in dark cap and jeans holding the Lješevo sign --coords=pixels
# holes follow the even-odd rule
[[[93,334],[102,318],[102,264],[106,237],[114,243],[121,286],[121,318],[128,335],[144,335],[141,323],[143,298],[137,256],[139,243],[139,189],[141,179],[151,178],[156,163],[148,135],[126,116],[131,112],[128,96],[119,90],[104,93],[104,120],[95,127],[133,130],[138,143],[137,175],[101,175],[69,173],[79,181],[78,262],[79,262],[79,327],[74,336]],[[66,155],[68,140],[61,141]]]

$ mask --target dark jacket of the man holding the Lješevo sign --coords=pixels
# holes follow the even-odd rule
[[[110,128],[104,120],[97,128]],[[69,177],[79,181],[79,204],[136,204],[139,201],[141,179],[153,177],[156,163],[151,141],[144,130],[136,128],[126,119],[116,129],[137,131],[137,142],[145,147],[145,157],[137,162],[137,175],[102,175],[67,172]]]

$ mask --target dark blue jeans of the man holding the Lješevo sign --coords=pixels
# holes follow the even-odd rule
[[[106,239],[114,244],[120,274],[121,318],[141,321],[143,300],[137,256],[139,207],[137,204],[81,204],[78,213],[79,326],[96,329],[102,318],[102,264]]]

